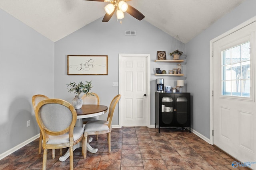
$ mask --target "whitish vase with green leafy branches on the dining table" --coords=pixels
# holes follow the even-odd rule
[[[68,92],[74,92],[74,94],[76,94],[75,98],[72,100],[72,105],[75,107],[75,109],[81,109],[82,105],[83,105],[83,100],[79,98],[79,95],[81,93],[84,93],[86,95],[90,95],[90,90],[92,88],[92,81],[88,82],[86,81],[86,83],[84,82],[79,82],[78,84],[76,84],[75,82],[70,82],[67,85],[68,88]]]

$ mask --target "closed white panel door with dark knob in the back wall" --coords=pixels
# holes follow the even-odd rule
[[[120,126],[150,126],[150,55],[119,55]]]

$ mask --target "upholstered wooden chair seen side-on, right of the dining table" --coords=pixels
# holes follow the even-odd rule
[[[90,135],[101,135],[101,134],[108,134],[108,152],[111,152],[111,124],[112,118],[114,115],[114,111],[116,108],[116,104],[119,102],[121,95],[118,94],[115,96],[108,108],[108,118],[107,120],[92,120],[88,121],[84,126],[84,140],[87,141],[88,136]],[[85,143],[86,147],[87,143]],[[84,158],[86,158],[87,150],[84,150]]]

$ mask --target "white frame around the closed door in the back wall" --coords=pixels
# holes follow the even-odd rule
[[[121,64],[122,64],[122,57],[145,57],[146,58],[146,94],[147,94],[147,104],[148,104],[148,108],[147,108],[147,112],[148,117],[147,117],[147,126],[150,127],[150,117],[151,117],[151,112],[150,112],[150,54],[119,54],[119,78],[118,78],[118,84],[119,84],[119,93],[121,93]],[[121,94],[122,95],[122,94]],[[122,97],[120,99],[119,102],[119,110],[122,110],[122,107],[124,107],[124,105],[122,105]],[[119,127],[122,127],[122,116],[120,115],[119,112]]]

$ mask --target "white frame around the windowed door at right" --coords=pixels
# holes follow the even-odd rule
[[[241,23],[240,25],[230,29],[226,33],[219,35],[218,37],[210,40],[210,144],[213,145],[213,43],[250,25],[256,21],[256,16],[250,18],[249,20]],[[216,94],[216,93],[215,93]]]

